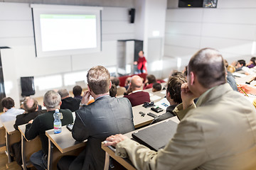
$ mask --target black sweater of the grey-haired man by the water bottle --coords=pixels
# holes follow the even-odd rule
[[[55,111],[49,111],[38,115],[33,120],[32,124],[28,123],[28,125],[26,125],[25,137],[28,140],[33,140],[39,135],[44,154],[48,154],[48,137],[46,137],[46,130],[53,129],[53,113],[55,113]],[[73,123],[73,115],[70,110],[60,109],[60,113],[63,114],[63,119],[61,119],[62,125]]]

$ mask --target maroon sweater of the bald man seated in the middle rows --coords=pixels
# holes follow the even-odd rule
[[[132,103],[132,107],[150,101],[149,93],[146,91],[137,91],[124,97],[129,99],[129,101]]]

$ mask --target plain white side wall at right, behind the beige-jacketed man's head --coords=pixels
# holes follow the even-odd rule
[[[177,69],[178,57],[183,69],[203,47],[220,50],[229,63],[249,62],[256,38],[256,1],[220,0],[217,8],[177,8],[176,1],[174,8],[174,1],[169,0],[168,6],[163,75]]]

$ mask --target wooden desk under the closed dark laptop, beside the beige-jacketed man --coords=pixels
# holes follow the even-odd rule
[[[179,120],[177,118],[177,116],[175,117],[172,117],[172,118],[169,118],[169,119],[166,119],[166,120],[172,120],[176,123],[179,123]],[[163,121],[166,121],[166,120],[163,120]],[[163,121],[159,122],[159,123],[162,123]],[[153,125],[150,125],[150,126],[154,126],[154,125],[157,125],[159,123],[155,123]],[[143,130],[145,128],[148,128],[148,127],[144,127],[144,128],[141,128],[139,130]],[[132,132],[128,132],[126,134],[124,134],[125,136],[129,137],[129,138],[132,138],[132,133],[134,132],[137,132],[138,130],[134,130]],[[171,140],[171,139],[170,139]],[[123,159],[122,157],[118,157],[115,155],[114,153],[114,149],[110,149],[110,147],[105,147],[103,142],[102,142],[102,149],[105,150],[106,152],[106,159],[108,159],[108,157],[112,157],[113,159],[115,159],[119,164],[121,164],[122,166],[124,166],[124,168],[126,169],[132,169],[132,170],[135,170],[136,168],[132,165],[132,162],[129,160],[129,159]],[[107,167],[107,166],[105,166]]]

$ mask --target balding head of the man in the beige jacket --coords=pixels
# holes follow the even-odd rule
[[[188,63],[188,74],[196,74],[198,82],[206,89],[225,84],[224,60],[218,50],[203,48]]]

